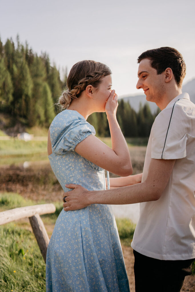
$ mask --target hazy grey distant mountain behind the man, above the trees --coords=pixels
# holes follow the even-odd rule
[[[182,92],[189,93],[190,100],[195,103],[195,78],[183,85]],[[142,105],[144,105],[145,103],[148,103],[152,113],[156,112],[156,110],[158,109],[156,103],[148,102],[146,100],[146,95],[145,94],[142,94],[142,95],[127,95],[127,96],[121,96],[119,98],[122,98],[124,101],[129,102],[131,107],[136,112],[139,111],[140,102],[141,102]]]

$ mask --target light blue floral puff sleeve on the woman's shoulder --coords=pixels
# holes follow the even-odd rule
[[[73,112],[73,111],[71,111]],[[95,135],[95,129],[81,115],[65,115],[56,119],[50,126],[52,152],[65,154],[74,151],[77,144],[89,135]],[[64,118],[64,119],[63,119]]]

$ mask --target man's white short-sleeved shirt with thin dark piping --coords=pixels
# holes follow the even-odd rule
[[[160,260],[195,258],[195,105],[187,93],[174,98],[156,117],[142,182],[151,158],[176,161],[160,199],[140,203],[131,246]]]

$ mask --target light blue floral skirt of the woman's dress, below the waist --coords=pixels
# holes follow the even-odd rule
[[[61,211],[47,249],[46,291],[129,291],[111,206]]]

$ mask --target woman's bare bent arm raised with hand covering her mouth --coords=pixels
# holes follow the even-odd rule
[[[118,96],[112,91],[105,108],[112,149],[94,135],[89,135],[75,147],[75,152],[112,173],[127,176],[132,174],[132,165],[127,143],[116,119],[117,99]]]

